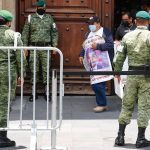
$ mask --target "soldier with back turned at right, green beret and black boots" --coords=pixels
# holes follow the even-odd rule
[[[114,70],[121,71],[123,62],[128,55],[129,70],[150,70],[150,32],[148,23],[149,13],[139,11],[136,14],[137,29],[127,33],[122,40],[122,49],[114,63]],[[119,76],[117,76],[119,78]],[[150,146],[145,139],[145,130],[150,118],[150,76],[128,76],[119,116],[119,131],[115,140],[118,146],[124,145],[126,125],[130,123],[134,106],[138,100],[138,136],[136,148]]]

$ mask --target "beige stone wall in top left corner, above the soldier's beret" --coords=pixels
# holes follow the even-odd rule
[[[16,27],[16,0],[0,0],[0,9],[6,9],[14,15],[12,28]]]

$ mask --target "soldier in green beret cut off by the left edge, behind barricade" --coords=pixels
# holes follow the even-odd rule
[[[10,29],[13,15],[6,10],[0,11],[0,46],[13,46],[15,32]],[[22,45],[21,36],[17,38],[18,45]],[[21,51],[10,50],[11,67],[11,95],[14,97],[17,78],[20,80],[20,57]],[[0,50],[0,127],[7,126],[7,105],[8,105],[8,51]],[[15,146],[15,141],[7,138],[7,131],[0,131],[0,148]]]

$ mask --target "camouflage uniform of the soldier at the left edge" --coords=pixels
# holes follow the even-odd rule
[[[9,27],[0,26],[0,46],[14,45],[14,31]],[[18,45],[22,45],[21,38],[18,38]],[[10,50],[11,62],[11,98],[15,97],[17,76],[20,76],[21,51]],[[8,105],[8,51],[0,50],[0,127],[7,126],[7,105]]]

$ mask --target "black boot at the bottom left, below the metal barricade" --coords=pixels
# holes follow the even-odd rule
[[[15,146],[16,142],[7,138],[7,131],[0,131],[0,148]]]

